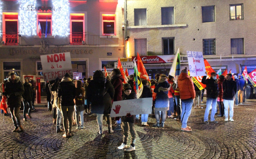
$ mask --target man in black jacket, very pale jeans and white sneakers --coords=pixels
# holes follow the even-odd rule
[[[224,121],[234,121],[233,114],[234,114],[234,98],[237,90],[237,84],[232,78],[232,74],[229,73],[226,76],[223,84],[223,104],[224,104]],[[228,112],[229,108],[229,112]],[[230,118],[228,118],[230,117]]]

